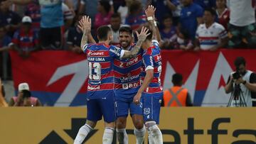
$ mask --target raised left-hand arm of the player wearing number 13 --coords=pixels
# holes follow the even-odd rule
[[[82,16],[81,20],[79,21],[78,28],[80,28],[83,32],[82,40],[81,40],[81,48],[82,51],[85,50],[85,46],[88,43],[88,34],[90,33],[92,26],[92,20],[89,16]]]

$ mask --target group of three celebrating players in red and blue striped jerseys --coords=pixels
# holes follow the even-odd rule
[[[91,20],[84,16],[79,22],[83,31],[81,48],[87,55],[89,79],[87,87],[87,121],[78,131],[75,144],[82,143],[97,121],[105,121],[103,144],[111,144],[114,128],[119,143],[128,143],[127,116],[134,123],[137,144],[144,142],[146,130],[149,143],[163,143],[159,113],[163,96],[161,87],[161,55],[159,31],[154,21],[156,9],[149,6],[145,13],[149,27],[142,27],[137,43],[132,43],[132,30],[119,29],[119,47],[110,45],[112,31],[108,26],[97,29],[99,43],[90,34]],[[88,41],[90,43],[88,43]],[[145,125],[145,126],[144,126]],[[146,128],[145,128],[146,127]]]

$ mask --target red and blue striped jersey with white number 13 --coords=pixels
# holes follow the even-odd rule
[[[114,58],[122,57],[124,50],[102,43],[86,44],[82,50],[87,55],[89,67],[87,97],[98,99],[114,94]]]

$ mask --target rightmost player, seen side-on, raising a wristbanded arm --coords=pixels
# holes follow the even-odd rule
[[[155,11],[153,6],[149,6],[146,13]],[[146,14],[148,16],[148,14]],[[154,23],[153,15],[148,16],[149,23]],[[154,27],[154,26],[153,26]],[[153,28],[156,31],[156,28]],[[143,71],[142,86],[139,88],[134,103],[140,104],[142,97],[142,106],[144,110],[144,122],[149,132],[149,143],[163,143],[163,136],[156,124],[159,124],[159,113],[161,101],[163,99],[163,89],[161,87],[161,54],[159,43],[152,40],[152,33],[146,37],[142,43],[143,54]]]

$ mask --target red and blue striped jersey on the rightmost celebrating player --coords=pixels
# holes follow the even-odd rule
[[[149,87],[147,87],[144,90],[144,93],[147,93],[147,94],[159,93],[163,91],[163,88],[161,87],[161,79],[160,79],[162,63],[161,63],[159,43],[156,40],[152,40],[152,43],[154,44],[154,46],[144,50],[143,59],[142,59],[143,60],[143,65],[142,65],[143,70],[141,75],[142,81],[146,76],[146,70],[149,70],[149,69],[154,70],[154,78],[149,84]]]

